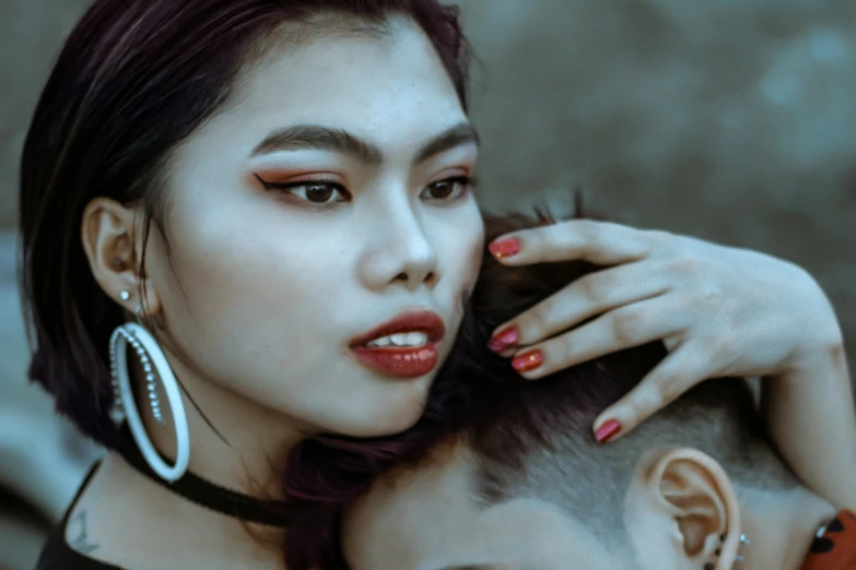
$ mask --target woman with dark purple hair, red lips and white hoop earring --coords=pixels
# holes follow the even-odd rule
[[[91,2],[21,154],[27,376],[105,449],[38,570],[317,568],[318,519],[288,500],[317,470],[289,458],[431,421],[486,254],[611,265],[484,336],[520,377],[670,348],[598,440],[704,378],[769,373],[769,432],[839,496],[817,459],[856,440],[856,412],[814,280],[619,225],[485,242],[469,62],[441,0]],[[821,453],[802,444],[819,411]],[[856,452],[830,461],[856,471]]]

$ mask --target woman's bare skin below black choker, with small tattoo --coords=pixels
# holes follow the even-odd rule
[[[110,453],[70,512],[66,539],[122,568],[268,570],[281,568],[282,533],[183,500]]]

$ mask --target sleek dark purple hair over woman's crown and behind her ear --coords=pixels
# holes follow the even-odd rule
[[[230,100],[242,72],[263,55],[267,34],[324,14],[378,29],[390,15],[412,17],[466,109],[458,12],[437,0],[96,0],[59,55],[21,162],[30,377],[99,443],[110,447],[115,436],[107,345],[122,309],[89,270],[84,207],[96,197],[141,204],[143,239],[151,222],[163,233],[176,146]]]

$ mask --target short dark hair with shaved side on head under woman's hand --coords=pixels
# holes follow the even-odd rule
[[[505,233],[530,226],[495,221]],[[500,227],[506,226],[506,227]],[[796,479],[766,439],[754,396],[742,378],[708,380],[609,444],[593,435],[597,416],[635,388],[666,356],[661,342],[609,354],[538,381],[521,380],[507,358],[488,348],[492,331],[519,312],[601,268],[583,262],[511,268],[488,258],[472,298],[454,376],[468,408],[459,436],[474,452],[477,492],[485,503],[542,499],[623,537],[621,504],[643,455],[693,448],[715,459],[738,488],[784,489]],[[465,388],[461,388],[464,390]]]

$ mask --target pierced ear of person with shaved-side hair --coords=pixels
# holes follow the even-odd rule
[[[737,495],[722,466],[699,450],[659,450],[644,458],[626,508],[642,559],[661,555],[670,560],[668,567],[699,570],[727,570],[739,560]]]

